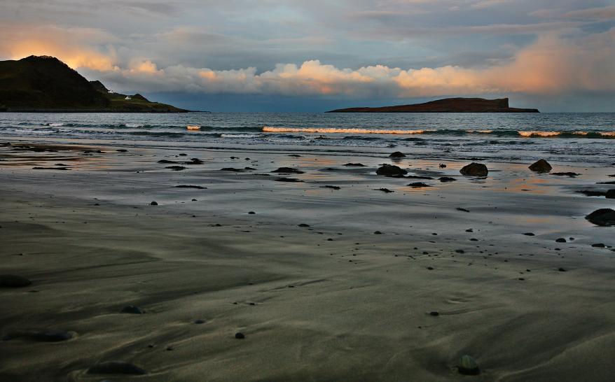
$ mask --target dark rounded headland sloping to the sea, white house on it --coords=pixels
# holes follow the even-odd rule
[[[55,57],[0,61],[0,111],[47,113],[186,113],[141,94],[111,92]]]

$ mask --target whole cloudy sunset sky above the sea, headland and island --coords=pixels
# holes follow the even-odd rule
[[[0,59],[192,110],[615,111],[615,0],[0,0]]]

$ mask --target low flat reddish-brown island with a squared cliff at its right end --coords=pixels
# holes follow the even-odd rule
[[[327,113],[540,113],[536,108],[511,108],[508,98],[445,98],[424,104],[380,108],[339,108]]]

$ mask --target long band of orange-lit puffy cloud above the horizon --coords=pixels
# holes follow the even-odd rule
[[[0,56],[53,55],[74,69],[88,69],[90,76],[113,87],[132,87],[134,91],[357,98],[615,92],[615,28],[595,34],[580,34],[575,29],[567,34],[544,32],[506,62],[482,68],[373,65],[340,69],[312,59],[300,65],[277,64],[261,73],[253,66],[230,70],[160,67],[141,55],[123,61],[113,48],[117,39],[99,29],[3,25],[0,34],[6,36],[0,40]]]

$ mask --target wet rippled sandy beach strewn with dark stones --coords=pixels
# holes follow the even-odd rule
[[[0,274],[32,281],[0,288],[1,381],[615,378],[615,227],[584,219],[615,199],[575,193],[615,188],[596,184],[614,167],[117,149],[0,147]],[[51,330],[72,338],[32,335]]]

